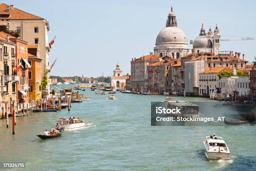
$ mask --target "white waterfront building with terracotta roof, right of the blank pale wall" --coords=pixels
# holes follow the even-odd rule
[[[210,92],[218,87],[218,73],[232,71],[229,67],[218,67],[199,73],[199,96],[210,96]]]

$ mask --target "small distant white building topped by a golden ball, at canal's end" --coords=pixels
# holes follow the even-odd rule
[[[118,63],[116,64],[116,68],[113,72],[114,75],[111,77],[111,88],[113,90],[125,88],[125,81],[128,78],[128,74],[123,76],[123,71],[120,70]]]

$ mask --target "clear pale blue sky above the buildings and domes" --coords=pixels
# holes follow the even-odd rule
[[[256,38],[255,0],[3,0],[50,23],[51,75],[85,77],[113,75],[116,63],[130,73],[132,58],[153,52],[156,37],[173,7],[178,27],[194,40],[202,23],[208,31],[218,24],[222,39]],[[229,36],[229,37],[228,37]],[[234,36],[234,37],[230,37]],[[189,45],[191,53],[192,45]],[[221,42],[220,50],[256,56],[256,40]]]

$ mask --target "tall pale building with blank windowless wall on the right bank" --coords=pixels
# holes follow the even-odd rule
[[[199,73],[205,71],[204,60],[185,62],[185,91],[192,95],[199,94]]]

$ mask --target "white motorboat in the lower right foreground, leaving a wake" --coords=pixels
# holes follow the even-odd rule
[[[222,137],[211,139],[210,136],[207,136],[203,144],[205,146],[205,156],[208,160],[230,159],[230,151]]]

